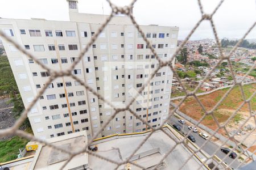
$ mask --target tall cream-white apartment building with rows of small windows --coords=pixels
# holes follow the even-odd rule
[[[77,1],[68,1],[69,22],[45,19],[0,19],[0,29],[28,52],[54,70],[68,69],[82,48],[94,36],[106,15],[81,14]],[[141,25],[143,32],[163,60],[169,59],[177,44],[177,27]],[[44,86],[51,73],[2,39],[25,108]],[[126,16],[115,16],[100,33],[89,51],[75,66],[75,74],[98,94],[123,108],[158,67],[158,61]],[[156,73],[130,109],[152,126],[167,117],[172,71]],[[114,109],[69,76],[57,78],[47,87],[28,113],[36,137],[52,138],[87,130],[92,137],[114,114]],[[128,111],[119,112],[98,137],[147,130]]]

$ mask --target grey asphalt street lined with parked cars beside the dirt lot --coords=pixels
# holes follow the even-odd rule
[[[182,125],[180,122],[178,122],[178,119],[177,119],[176,117],[171,117],[171,120],[168,121],[168,122],[169,122],[171,125],[173,125],[173,124],[179,125],[179,126],[181,127],[181,130],[182,130],[183,125]],[[189,131],[188,126],[187,126],[187,125],[184,125],[184,133],[187,134],[188,131]],[[201,147],[201,146],[204,144],[205,139],[203,139],[202,137],[199,136],[198,133],[194,133],[193,131],[192,131],[191,134],[192,134],[193,137],[195,137],[195,139],[196,139],[196,145],[199,146],[199,147]],[[211,141],[208,141],[208,142],[204,145],[204,147],[203,147],[202,149],[203,149],[203,151],[207,152],[207,154],[212,155],[213,152],[217,150],[217,148],[218,148],[218,146],[217,146],[215,143],[213,143],[213,142],[211,142]],[[224,154],[224,153],[221,152],[220,150],[218,150],[215,155],[217,155],[218,158],[220,158],[220,159],[223,159],[223,158],[226,156],[226,154]],[[234,160],[234,159],[227,157],[224,162],[229,165],[233,160]],[[236,168],[238,168],[238,165],[240,165],[240,162],[238,162],[238,160],[235,160],[235,161],[230,165],[230,167],[236,169]]]

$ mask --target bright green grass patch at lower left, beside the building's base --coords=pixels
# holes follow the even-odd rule
[[[19,148],[24,148],[28,139],[15,136],[6,141],[0,141],[0,163],[14,160],[19,154]]]

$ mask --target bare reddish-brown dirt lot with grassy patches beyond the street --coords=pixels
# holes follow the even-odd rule
[[[199,96],[200,102],[204,105],[205,109],[207,111],[210,111],[218,101],[224,96],[224,94],[229,89],[226,88],[224,90],[218,90],[216,92],[213,92],[209,95]],[[249,84],[246,86],[243,86],[243,91],[245,93],[246,99],[248,99],[256,90],[256,84]],[[179,101],[175,101],[175,103],[179,103]],[[230,116],[236,111],[236,109],[243,103],[243,97],[241,94],[240,87],[234,87],[233,90],[229,93],[229,95],[225,98],[224,101],[220,104],[219,107],[216,108],[216,110],[213,112],[214,116],[216,117],[216,120],[212,116],[206,116],[202,124],[208,126],[210,129],[216,130],[217,129],[217,123],[218,124],[225,124],[225,122],[228,120]],[[251,111],[256,111],[256,96],[254,96],[251,99],[250,102]],[[195,98],[190,97],[189,99],[185,100],[185,102],[180,106],[180,111],[187,114],[188,116],[194,118],[195,120],[199,120],[202,116],[204,116],[203,108],[200,107],[200,104],[196,101]],[[240,109],[240,111],[237,112],[236,116],[232,117],[232,119],[229,121],[229,123],[225,126],[228,133],[232,134],[232,132],[236,129],[238,129],[239,126],[241,126],[246,119],[250,117],[249,114],[249,104],[243,105],[243,107]],[[216,122],[217,121],[217,122]],[[242,125],[242,131],[238,133],[235,138],[238,141],[243,141],[243,139],[246,137],[246,134],[251,132],[250,130],[243,129],[245,126],[251,125],[255,126],[254,117],[251,117],[245,125]],[[220,129],[219,133],[222,135],[228,136],[226,131],[224,129]],[[254,130],[253,133],[245,139],[243,142],[245,145],[250,146],[256,140],[256,131]],[[251,147],[251,150],[255,149],[255,145]]]

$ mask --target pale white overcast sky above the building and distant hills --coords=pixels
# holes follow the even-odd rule
[[[129,0],[112,0],[124,6]],[[205,12],[209,13],[218,4],[217,0],[203,0]],[[102,7],[104,10],[102,10]],[[110,14],[105,0],[79,0],[79,12]],[[134,6],[134,16],[139,24],[158,24],[180,28],[179,39],[184,39],[200,19],[197,0],[138,0]],[[1,18],[45,18],[47,20],[68,20],[66,0],[7,0],[0,2]],[[239,39],[256,21],[256,0],[226,0],[214,16],[220,38]],[[213,38],[208,21],[204,21],[191,40]],[[256,27],[247,36],[256,39]]]

